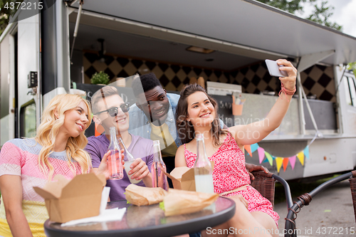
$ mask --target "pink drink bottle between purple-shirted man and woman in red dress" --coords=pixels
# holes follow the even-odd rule
[[[167,169],[162,159],[159,140],[155,140],[153,141],[153,163],[151,168],[152,187],[160,187],[168,191],[167,176],[163,172],[167,172]]]

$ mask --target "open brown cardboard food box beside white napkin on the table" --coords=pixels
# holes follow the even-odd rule
[[[64,223],[90,216],[98,216],[104,175],[78,174],[68,180],[56,175],[43,189],[33,187],[37,194],[45,199],[48,216],[51,221]]]

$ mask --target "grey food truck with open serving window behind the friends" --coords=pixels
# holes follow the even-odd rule
[[[255,122],[280,90],[264,60],[286,58],[297,93],[281,126],[245,147],[246,162],[284,179],[356,167],[356,81],[345,69],[355,37],[253,0],[57,0],[35,10],[19,9],[0,37],[1,145],[33,136],[53,96],[81,88],[90,99],[100,71],[111,83],[153,72],[169,93],[202,78],[227,126]]]

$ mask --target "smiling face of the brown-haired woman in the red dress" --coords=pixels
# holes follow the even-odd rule
[[[214,121],[216,111],[205,93],[197,91],[187,98],[188,115],[187,120],[192,122],[194,127],[211,126]]]

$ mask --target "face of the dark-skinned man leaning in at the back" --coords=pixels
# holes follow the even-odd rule
[[[145,112],[150,122],[157,124],[159,121],[162,125],[167,118],[169,110],[169,100],[166,90],[163,90],[160,86],[156,86],[152,90],[141,93],[137,97],[137,107]]]

